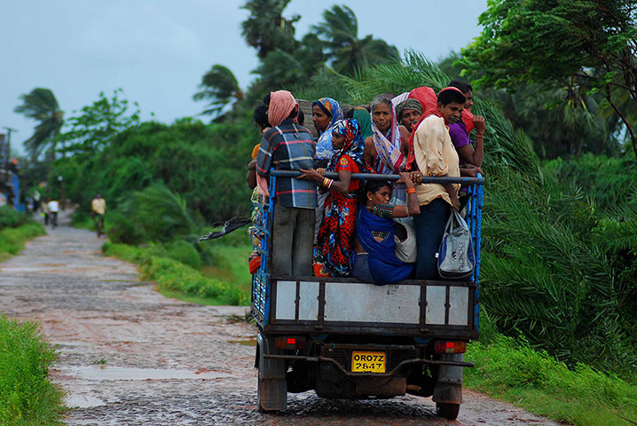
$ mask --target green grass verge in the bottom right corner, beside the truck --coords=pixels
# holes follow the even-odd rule
[[[468,345],[464,386],[576,426],[637,422],[637,386],[578,364],[570,369],[516,339],[490,333]]]

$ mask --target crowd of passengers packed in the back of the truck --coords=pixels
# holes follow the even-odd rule
[[[471,114],[473,89],[452,81],[437,95],[421,87],[376,97],[346,113],[335,99],[312,104],[313,138],[292,93],[273,91],[254,118],[263,131],[248,164],[253,201],[274,195],[271,273],[278,277],[354,277],[377,285],[409,278],[436,280],[436,252],[452,209],[468,188],[420,185],[423,176],[476,177],[482,173],[484,118]],[[476,130],[475,146],[469,139]],[[298,170],[277,177],[271,170]],[[334,172],[337,178],[326,177]],[[399,175],[352,179],[352,173]],[[261,220],[261,209],[253,221]],[[257,246],[263,235],[250,228]],[[250,256],[250,270],[260,262]]]

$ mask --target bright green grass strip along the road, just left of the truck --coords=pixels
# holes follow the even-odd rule
[[[205,299],[206,304],[245,305],[249,302],[248,293],[240,288],[228,282],[209,278],[175,259],[155,256],[153,251],[156,250],[152,246],[134,247],[106,241],[102,250],[108,256],[138,264],[143,279],[155,281],[160,292],[171,291],[171,296],[179,292],[191,297],[191,300],[187,301],[193,302],[192,297],[195,296],[198,300],[195,303],[201,303],[202,299]]]

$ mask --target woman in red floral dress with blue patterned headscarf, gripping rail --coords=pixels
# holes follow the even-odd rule
[[[365,143],[356,120],[334,123],[332,145],[334,155],[327,164],[327,171],[338,173],[338,179],[329,179],[324,170],[301,170],[306,180],[315,180],[327,191],[325,216],[319,229],[314,256],[314,273],[317,276],[347,277],[350,275],[350,255],[354,248],[359,181],[352,180],[352,173],[369,172],[363,159]]]

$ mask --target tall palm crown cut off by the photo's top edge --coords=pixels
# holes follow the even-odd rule
[[[264,59],[275,49],[294,51],[297,43],[294,24],[301,16],[283,18],[288,3],[290,0],[248,0],[241,8],[250,12],[248,19],[241,23],[241,35],[258,50],[259,58]]]

